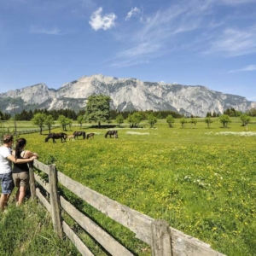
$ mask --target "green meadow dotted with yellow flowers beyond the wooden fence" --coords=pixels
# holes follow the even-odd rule
[[[37,152],[39,160],[54,162],[79,183],[151,218],[164,219],[221,253],[255,255],[256,120],[247,129],[238,118],[228,128],[212,120],[210,128],[204,119],[185,128],[179,120],[169,128],[166,119],[159,119],[153,129],[146,121],[141,129],[123,124],[118,139],[105,138],[108,130],[89,125],[82,130],[95,132],[91,140],[44,143],[47,131],[24,137],[26,148]],[[67,134],[79,130],[72,126]],[[127,230],[72,200],[132,252],[150,254],[139,241],[130,241]]]

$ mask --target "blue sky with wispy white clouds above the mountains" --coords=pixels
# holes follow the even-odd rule
[[[256,102],[256,0],[0,0],[0,92],[98,73]]]

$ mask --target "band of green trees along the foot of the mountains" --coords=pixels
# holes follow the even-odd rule
[[[101,122],[111,123],[111,120],[116,119],[119,122],[122,122],[122,119],[127,119],[130,123],[131,127],[137,126],[141,120],[143,119],[151,119],[151,124],[154,123],[155,119],[183,119],[183,124],[186,123],[185,117],[183,114],[171,111],[171,110],[146,110],[146,111],[118,111],[114,109],[110,109],[111,98],[109,96],[104,95],[93,95],[88,98],[88,102],[84,108],[84,110],[80,110],[76,113],[74,110],[65,108],[65,109],[35,109],[34,111],[22,110],[20,113],[15,113],[16,120],[35,120],[38,119],[38,116],[44,116],[44,125],[51,124],[56,120],[62,119],[63,128],[66,128],[66,125],[71,125],[73,120],[78,120],[79,124],[83,121],[95,121],[98,125],[101,125]],[[207,123],[210,124],[210,119],[212,117],[220,117],[220,116],[229,116],[229,117],[242,117],[245,119],[245,116],[256,116],[256,109],[252,108],[247,113],[242,113],[241,111],[237,111],[235,108],[228,108],[224,111],[223,114],[220,113],[207,113]],[[50,120],[49,120],[50,117]],[[172,118],[171,118],[172,117]],[[11,118],[11,114],[2,113],[0,111],[0,119],[8,120]],[[187,117],[189,118],[189,117]],[[195,116],[191,115],[191,122],[195,124]],[[41,117],[42,119],[42,117]],[[64,119],[66,120],[64,122]],[[224,119],[223,117],[221,119]],[[42,122],[42,121],[41,121]],[[188,122],[188,121],[187,121]],[[246,121],[245,121],[246,122]],[[226,124],[227,122],[225,122]],[[172,124],[172,122],[171,122]]]

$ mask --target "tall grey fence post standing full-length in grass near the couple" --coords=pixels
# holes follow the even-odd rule
[[[62,238],[62,224],[61,224],[61,203],[58,195],[57,186],[57,171],[55,165],[49,166],[49,200],[50,200],[50,212],[52,217],[52,222],[54,226],[55,233]]]

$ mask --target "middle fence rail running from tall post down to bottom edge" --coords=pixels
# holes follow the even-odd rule
[[[83,213],[79,212],[72,204],[66,201],[61,196],[61,207],[84,229],[104,247],[111,255],[122,255],[131,256],[133,255],[125,247],[119,244],[118,241],[114,240],[112,236],[102,230],[96,223],[90,218],[84,216]]]

